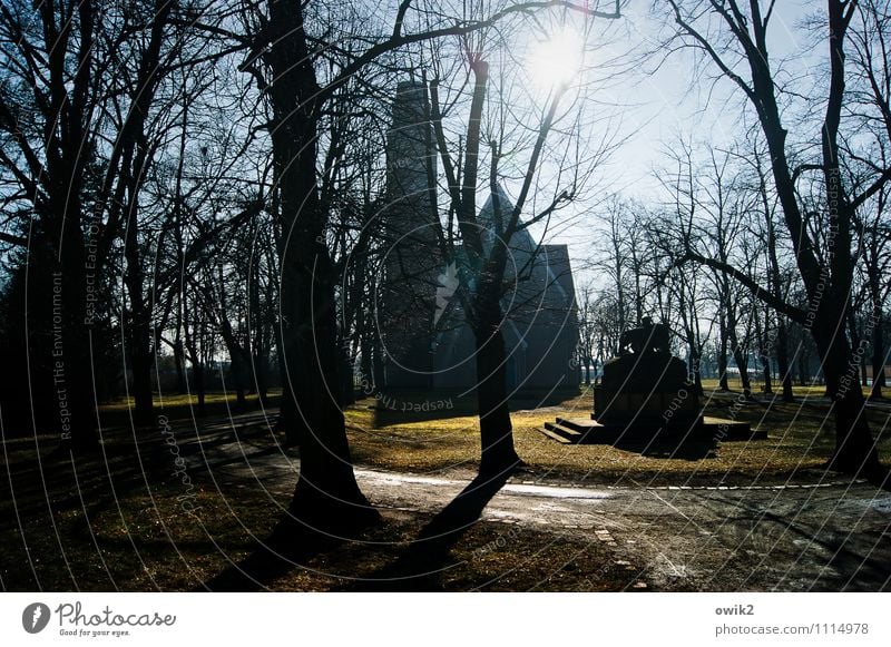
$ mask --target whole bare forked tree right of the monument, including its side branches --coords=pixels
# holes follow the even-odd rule
[[[777,94],[782,86],[771,63],[767,31],[773,14],[757,0],[745,4],[737,0],[681,2],[667,0],[677,31],[677,43],[701,52],[719,76],[730,79],[754,109],[771,156],[771,171],[786,227],[791,235],[797,268],[807,292],[806,310],[776,298],[770,290],[755,284],[738,269],[721,261],[687,254],[685,261],[703,263],[734,276],[758,298],[793,321],[810,329],[820,353],[828,392],[833,398],[835,451],[829,467],[853,473],[883,478],[869,424],[863,415],[863,394],[851,384],[849,365],[852,349],[840,334],[846,321],[853,277],[852,234],[856,209],[891,178],[882,169],[873,184],[852,194],[842,178],[839,130],[844,104],[845,43],[856,1],[828,0],[824,29],[828,28],[828,92],[819,125],[820,156],[815,164],[794,167],[787,143],[787,122],[783,119]],[[706,26],[711,29],[706,30]],[[715,31],[715,29],[719,30]],[[742,65],[736,65],[741,60]],[[807,124],[800,126],[801,130]],[[804,133],[801,133],[804,137]],[[817,242],[809,234],[806,214],[796,193],[796,178],[810,169],[822,177],[825,223],[830,235],[825,254],[817,255]]]

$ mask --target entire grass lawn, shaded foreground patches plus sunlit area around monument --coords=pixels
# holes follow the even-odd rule
[[[707,384],[714,389],[714,384]],[[597,484],[757,484],[816,481],[833,447],[829,402],[814,389],[792,404],[758,396],[738,419],[768,432],[766,440],[724,442],[698,460],[643,455],[610,445],[562,445],[538,432],[557,415],[585,416],[589,393],[547,408],[519,402],[512,415],[518,452],[532,477]],[[408,398],[408,395],[407,395]],[[735,393],[708,399],[706,414],[726,415]],[[417,401],[413,401],[417,402]],[[194,399],[167,399],[163,413],[189,428]],[[277,404],[277,396],[271,405]],[[346,410],[354,461],[411,472],[476,469],[479,457],[472,401],[448,410],[404,415],[381,411],[373,399]],[[194,477],[199,516],[184,513],[183,491],[172,473],[169,448],[157,430],[131,430],[128,403],[102,408],[102,453],[53,453],[51,437],[7,438],[0,480],[0,587],[6,590],[190,590],[251,555],[268,535],[287,492]],[[235,411],[234,396],[209,395],[208,421]],[[248,403],[260,413],[258,403]],[[882,460],[891,462],[888,404],[869,409]],[[427,418],[423,420],[421,418]],[[194,432],[193,432],[194,433]],[[281,435],[278,435],[281,438]],[[273,433],[246,438],[254,447]],[[37,442],[36,442],[37,441]],[[39,451],[38,451],[39,450]],[[841,478],[841,477],[833,477]],[[384,510],[384,522],[362,542],[344,542],[307,559],[270,582],[277,590],[350,590],[355,578],[392,563],[431,519],[428,512]],[[506,533],[511,541],[499,542]],[[503,546],[502,546],[503,545]],[[497,546],[497,549],[487,547]],[[480,521],[450,553],[441,584],[447,590],[623,590],[635,574],[613,561],[601,546],[535,528]]]

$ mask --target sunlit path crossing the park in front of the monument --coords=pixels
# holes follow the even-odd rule
[[[287,496],[300,469],[294,452],[245,438],[231,423],[192,441],[189,469],[217,482]],[[435,513],[473,479],[356,468],[379,508]],[[512,477],[482,513],[580,542],[656,590],[891,590],[891,493],[862,481],[776,487],[607,487]],[[497,547],[496,547],[497,548]]]

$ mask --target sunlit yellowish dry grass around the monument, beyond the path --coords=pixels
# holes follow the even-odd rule
[[[706,383],[715,390],[716,384]],[[802,389],[796,389],[796,396]],[[557,415],[587,418],[591,395],[584,392],[556,406],[520,409],[513,412],[515,444],[520,457],[538,478],[588,482],[756,483],[789,478],[816,478],[834,447],[833,421],[822,388],[811,388],[807,398],[786,404],[757,396],[736,413],[753,430],[767,432],[766,440],[716,443],[705,457],[679,452],[679,458],[663,458],[660,452],[618,449],[609,444],[564,445],[544,437],[539,429]],[[803,394],[802,394],[803,395]],[[411,396],[407,396],[409,399]],[[711,391],[705,399],[706,415],[726,418],[738,393]],[[410,400],[411,401],[411,400]],[[479,457],[478,420],[472,402],[456,401],[450,418],[417,420],[417,415],[381,412],[374,400],[351,406],[350,443],[356,462],[393,471],[431,472],[453,468],[474,469]],[[887,433],[889,409],[870,409],[873,433],[881,433],[882,460],[891,460],[891,437]],[[670,451],[662,452],[668,454]],[[703,452],[705,453],[705,452]]]

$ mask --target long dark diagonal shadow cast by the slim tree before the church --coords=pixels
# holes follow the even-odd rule
[[[449,552],[512,474],[480,474],[442,509],[393,563],[352,584],[351,591],[441,591]]]

